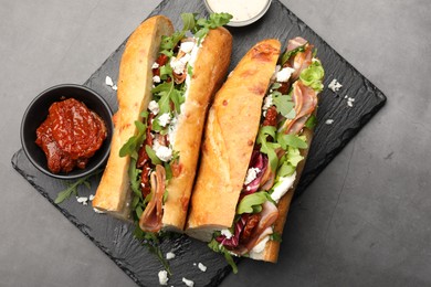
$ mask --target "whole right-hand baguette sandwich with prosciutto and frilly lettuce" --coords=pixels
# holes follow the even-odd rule
[[[210,108],[186,233],[233,265],[231,255],[277,261],[323,89],[313,50],[295,38],[278,59],[277,41],[257,43]]]

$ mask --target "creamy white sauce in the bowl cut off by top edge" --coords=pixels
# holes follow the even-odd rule
[[[262,12],[269,0],[207,0],[208,6],[216,13],[232,14],[232,21],[246,21]]]

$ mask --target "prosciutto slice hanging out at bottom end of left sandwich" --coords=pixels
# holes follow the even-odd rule
[[[159,232],[161,228],[162,200],[165,193],[166,171],[157,164],[156,171],[151,172],[151,199],[139,219],[139,227],[145,232]]]

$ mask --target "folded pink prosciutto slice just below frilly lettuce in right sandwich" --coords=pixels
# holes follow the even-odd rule
[[[295,104],[295,118],[286,119],[283,124],[282,130],[285,134],[296,135],[304,127],[308,117],[313,114],[317,105],[316,92],[304,85],[301,81],[293,84],[292,99]]]

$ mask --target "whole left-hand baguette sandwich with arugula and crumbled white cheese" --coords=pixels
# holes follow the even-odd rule
[[[208,20],[153,17],[130,35],[118,76],[111,155],[93,206],[141,231],[182,232],[207,107],[227,74],[225,13]]]

